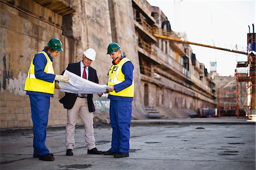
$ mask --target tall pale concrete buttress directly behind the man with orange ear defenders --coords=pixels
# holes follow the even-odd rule
[[[122,54],[126,55],[134,65],[135,94],[133,102],[133,117],[143,118],[144,106],[142,101],[142,92],[139,90],[141,87],[141,75],[139,71],[139,58],[137,53],[137,41],[135,38],[132,2],[109,0],[109,10],[112,39],[122,47]]]

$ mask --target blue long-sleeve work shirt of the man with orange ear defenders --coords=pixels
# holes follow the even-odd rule
[[[131,84],[133,84],[133,69],[134,66],[131,62],[126,62],[123,64],[122,67],[122,73],[125,74],[125,81],[114,85],[115,92],[120,92],[121,90],[129,87]],[[119,97],[119,96],[108,96],[109,99],[117,100],[117,101],[133,101],[133,97]]]

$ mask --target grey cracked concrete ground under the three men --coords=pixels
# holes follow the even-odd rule
[[[88,155],[84,129],[76,128],[74,156],[65,156],[65,130],[49,128],[55,161],[32,157],[28,130],[1,133],[0,169],[255,169],[255,122],[237,118],[133,121],[130,157]],[[110,148],[112,128],[94,128],[98,150]]]

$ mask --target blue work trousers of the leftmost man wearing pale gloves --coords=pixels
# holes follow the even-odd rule
[[[34,130],[34,155],[49,154],[46,147],[46,127],[49,114],[49,97],[30,95],[31,117]]]

